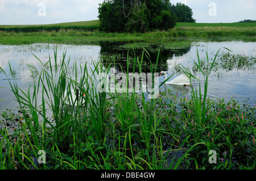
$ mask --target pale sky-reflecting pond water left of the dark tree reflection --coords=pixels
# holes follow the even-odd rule
[[[27,92],[32,77],[36,74],[28,65],[40,70],[42,66],[36,57],[42,62],[47,62],[49,57],[54,61],[55,48],[56,45],[53,44],[0,45],[0,66],[7,74],[6,77],[4,73],[0,72],[0,87],[4,87],[0,89],[0,100],[4,99],[0,102],[0,110],[14,110],[18,106],[13,92],[10,91],[9,79],[11,78],[11,82],[16,81],[18,87]],[[93,61],[99,60],[101,47],[93,45],[57,45],[58,61],[63,59],[63,52],[66,50],[65,60],[68,61],[70,57],[69,65],[73,66],[73,63],[77,62],[77,66],[86,64],[93,68]],[[17,80],[12,80],[9,62]]]

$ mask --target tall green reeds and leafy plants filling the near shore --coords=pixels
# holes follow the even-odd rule
[[[135,70],[138,64],[141,72],[144,56],[146,50],[133,62],[127,57],[127,68],[131,63]],[[198,61],[200,70],[199,57]],[[194,89],[191,100],[171,90],[159,92],[157,99],[146,99],[143,92],[97,91],[108,89],[106,77],[98,75],[110,72],[109,63],[115,65],[115,61],[98,62],[88,70],[69,65],[65,52],[57,60],[55,51],[54,60],[41,62],[42,70],[27,92],[10,81],[22,119],[17,127],[1,130],[0,169],[255,169],[256,105],[241,107],[236,100],[227,103],[205,94],[199,110],[195,100],[201,103],[201,96]],[[210,69],[213,64],[208,61]],[[150,64],[152,74],[156,66]],[[98,81],[102,84],[94,86]],[[64,91],[72,88],[79,88],[82,103],[77,107],[65,104]],[[68,100],[69,104],[75,101]],[[52,117],[46,116],[47,106]],[[204,120],[197,120],[199,111],[204,112]],[[36,162],[39,150],[46,151],[46,163]],[[208,161],[210,150],[216,150],[216,164]]]

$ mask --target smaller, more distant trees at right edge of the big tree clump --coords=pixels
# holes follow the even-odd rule
[[[177,3],[176,6],[171,6],[171,11],[175,13],[177,22],[195,23],[196,20],[192,18],[193,12],[187,5]]]

